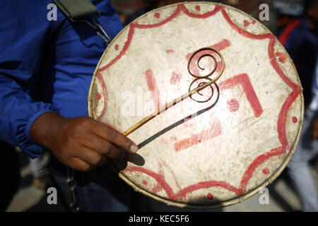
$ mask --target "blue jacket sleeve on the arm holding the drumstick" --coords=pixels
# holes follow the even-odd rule
[[[0,139],[18,145],[30,157],[45,148],[29,130],[37,117],[57,109],[30,96],[37,83],[45,42],[52,26],[45,1],[6,1],[0,6]]]

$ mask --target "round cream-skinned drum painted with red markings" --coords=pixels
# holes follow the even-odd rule
[[[304,106],[276,37],[236,8],[200,1],[127,25],[98,63],[88,112],[139,144],[109,161],[124,182],[168,205],[213,208],[244,201],[281,174]]]

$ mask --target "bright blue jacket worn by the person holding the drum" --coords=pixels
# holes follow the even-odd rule
[[[92,0],[102,13],[98,23],[113,38],[122,29],[110,0]],[[105,42],[86,23],[70,23],[59,9],[47,20],[49,0],[1,1],[0,139],[30,157],[45,148],[29,136],[45,112],[87,116],[87,95]]]

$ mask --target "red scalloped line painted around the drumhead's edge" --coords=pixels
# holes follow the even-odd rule
[[[283,103],[283,106],[281,107],[281,112],[278,114],[278,121],[277,121],[278,138],[279,138],[279,141],[281,142],[282,146],[278,147],[278,148],[273,148],[269,152],[266,152],[266,153],[256,157],[254,159],[254,161],[249,165],[249,167],[247,167],[247,170],[243,174],[239,189],[237,189],[235,186],[228,184],[228,182],[210,181],[210,182],[199,182],[199,183],[193,184],[191,186],[188,186],[185,189],[180,190],[177,194],[174,194],[171,187],[169,186],[169,184],[167,184],[167,182],[165,182],[165,179],[163,177],[161,177],[159,174],[151,171],[150,169],[145,169],[143,167],[127,167],[125,169],[128,171],[133,170],[133,171],[143,172],[145,174],[148,174],[150,177],[153,177],[153,179],[155,179],[159,184],[161,184],[161,186],[163,186],[163,189],[165,189],[165,191],[166,191],[167,197],[172,198],[174,200],[176,198],[185,196],[189,192],[196,191],[196,190],[202,189],[202,188],[207,188],[210,186],[222,186],[223,188],[228,189],[229,191],[233,191],[237,195],[240,195],[240,194],[242,194],[242,192],[244,192],[246,190],[249,179],[252,177],[252,174],[254,173],[255,169],[257,169],[257,167],[259,167],[259,165],[261,165],[264,161],[268,160],[270,157],[273,157],[276,155],[281,155],[284,152],[290,150],[290,147],[288,145],[288,141],[287,141],[287,138],[285,135],[286,117],[287,117],[288,109],[293,104],[293,102],[296,100],[298,95],[300,95],[300,87],[299,87],[299,85],[296,85],[295,83],[290,81],[290,79],[287,76],[285,76],[285,73],[283,73],[280,66],[278,65],[278,63],[276,61],[275,54],[274,54],[274,44],[276,42],[275,37],[271,33],[265,33],[262,35],[255,35],[255,34],[252,34],[250,32],[247,32],[247,30],[243,30],[242,28],[238,27],[235,23],[232,22],[232,20],[228,16],[228,13],[225,11],[225,8],[223,6],[216,6],[213,9],[213,11],[208,12],[208,13],[194,14],[194,13],[190,13],[183,4],[179,4],[179,5],[177,5],[176,11],[174,13],[172,13],[172,15],[169,18],[161,21],[160,23],[156,23],[153,25],[139,25],[138,23],[132,23],[130,25],[128,37],[127,37],[127,40],[124,44],[122,51],[119,53],[119,55],[117,55],[117,57],[112,59],[112,61],[110,61],[110,63],[108,63],[106,66],[103,66],[102,68],[98,69],[98,72],[104,71],[105,69],[108,69],[110,66],[112,66],[116,61],[118,61],[125,54],[126,50],[128,49],[129,45],[131,44],[132,37],[134,36],[134,28],[143,29],[143,28],[158,27],[160,25],[163,25],[163,24],[169,22],[173,18],[175,18],[181,11],[184,12],[185,14],[187,14],[188,16],[193,17],[193,18],[207,18],[209,16],[215,15],[220,10],[222,10],[221,12],[223,14],[223,17],[225,18],[225,20],[227,20],[227,22],[231,26],[231,28],[233,30],[237,31],[238,33],[240,33],[240,35],[243,35],[245,37],[248,37],[248,38],[251,38],[254,40],[263,40],[263,39],[267,39],[267,38],[269,39],[268,50],[269,50],[269,60],[271,62],[271,65],[273,66],[273,69],[275,69],[275,71],[278,73],[278,76],[280,76],[281,79],[288,86],[290,86],[290,88],[293,89],[293,92],[290,93],[290,95],[288,95],[287,99]]]

